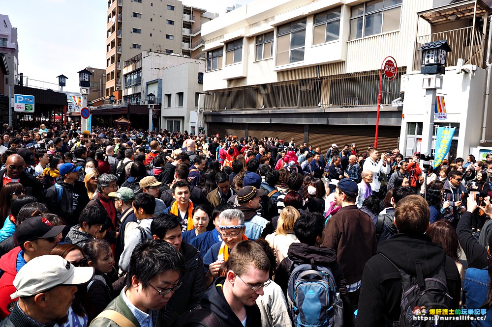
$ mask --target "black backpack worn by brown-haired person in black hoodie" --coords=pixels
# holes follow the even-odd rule
[[[442,263],[439,271],[431,277],[424,278],[422,272],[422,263],[416,262],[417,276],[410,276],[398,268],[387,256],[379,252],[393,267],[395,267],[401,276],[401,286],[403,287],[400,302],[400,326],[417,327],[417,326],[449,326],[449,321],[431,321],[413,320],[413,309],[415,307],[426,307],[432,309],[450,309],[451,300],[448,286],[446,284],[446,271],[444,270],[445,262]],[[446,260],[446,259],[444,259]]]

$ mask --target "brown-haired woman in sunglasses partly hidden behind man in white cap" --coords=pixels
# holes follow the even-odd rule
[[[59,255],[75,267],[86,266],[86,260],[79,245],[59,244],[51,250],[52,255]],[[77,286],[72,305],[68,308],[68,315],[56,320],[55,327],[87,326],[88,311],[92,313],[93,305],[87,295],[87,286]]]

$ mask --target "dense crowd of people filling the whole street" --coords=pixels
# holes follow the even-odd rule
[[[0,326],[492,326],[492,154],[325,150],[5,124]]]

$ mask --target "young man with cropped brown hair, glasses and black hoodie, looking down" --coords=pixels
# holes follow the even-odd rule
[[[182,326],[262,326],[256,299],[270,284],[269,271],[270,261],[261,245],[239,242],[229,256],[224,277],[207,290],[201,309],[185,314]]]

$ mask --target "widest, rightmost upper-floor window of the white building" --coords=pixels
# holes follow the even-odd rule
[[[372,0],[351,8],[350,39],[400,28],[402,0]]]

